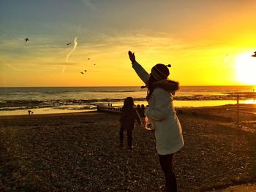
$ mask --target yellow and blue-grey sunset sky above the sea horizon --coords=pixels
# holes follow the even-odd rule
[[[181,85],[256,85],[255,10],[255,0],[1,0],[0,86],[142,85],[128,50],[148,72],[172,64]]]

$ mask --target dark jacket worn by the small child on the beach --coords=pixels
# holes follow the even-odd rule
[[[135,110],[135,107],[131,107],[128,109],[123,107],[120,118],[121,126],[126,130],[133,129],[135,125],[135,120],[137,120],[138,123],[141,123],[140,116]]]

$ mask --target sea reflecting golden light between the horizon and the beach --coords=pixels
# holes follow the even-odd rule
[[[183,86],[176,92],[176,107],[206,107],[236,104],[229,92],[250,92],[254,86]],[[97,105],[121,107],[132,96],[135,104],[147,104],[140,87],[0,88],[0,115],[24,115],[96,110]],[[254,103],[244,99],[241,103]]]

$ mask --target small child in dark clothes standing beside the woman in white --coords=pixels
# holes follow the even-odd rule
[[[127,99],[124,99],[124,107],[122,107],[120,118],[120,147],[124,147],[124,130],[126,130],[128,148],[129,150],[132,150],[132,131],[134,129],[135,120],[141,124],[140,116],[135,109],[135,104],[132,97],[127,97]]]

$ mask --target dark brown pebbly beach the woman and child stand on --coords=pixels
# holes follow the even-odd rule
[[[255,131],[216,114],[226,112],[178,113],[185,141],[175,159],[180,191],[256,183]],[[161,191],[154,132],[137,126],[134,150],[120,148],[118,118],[104,112],[0,117],[0,191]]]

